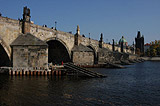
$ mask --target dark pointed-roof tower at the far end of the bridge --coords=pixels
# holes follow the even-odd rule
[[[144,36],[142,35],[141,37],[141,33],[140,31],[138,31],[137,33],[137,37],[135,38],[135,42],[136,42],[136,54],[144,54]]]

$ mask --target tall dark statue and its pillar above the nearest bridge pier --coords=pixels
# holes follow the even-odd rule
[[[30,32],[30,9],[27,7],[23,8],[23,20],[22,20],[22,33],[26,34]]]

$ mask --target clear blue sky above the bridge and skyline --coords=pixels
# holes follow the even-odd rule
[[[80,26],[81,34],[104,41],[119,40],[124,36],[132,44],[140,30],[145,42],[160,40],[160,0],[0,0],[3,16],[22,18],[24,6],[31,9],[35,24],[54,26],[75,33]]]

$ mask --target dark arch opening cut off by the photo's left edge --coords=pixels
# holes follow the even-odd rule
[[[10,58],[3,48],[3,46],[0,44],[0,67],[3,66],[11,66]]]

